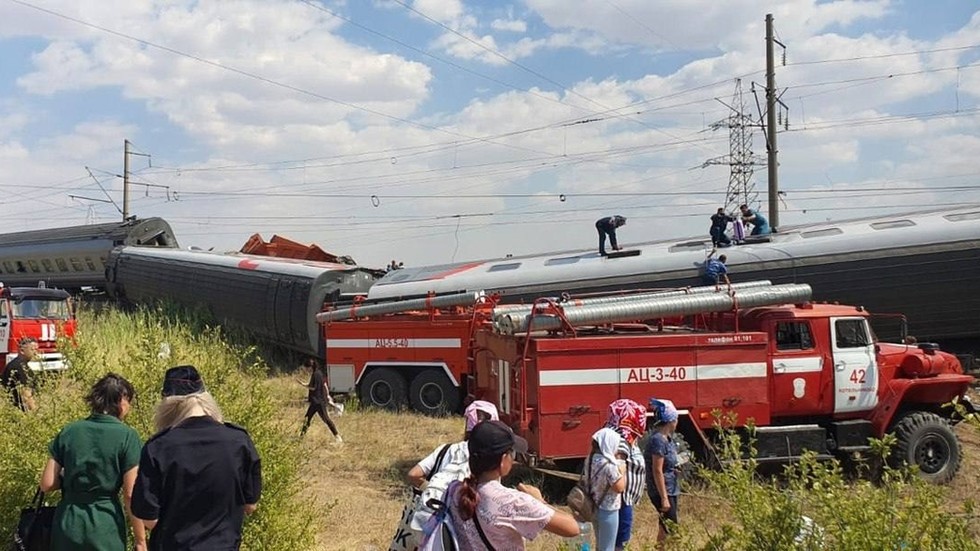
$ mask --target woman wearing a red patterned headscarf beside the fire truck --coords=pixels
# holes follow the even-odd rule
[[[622,551],[633,530],[633,506],[640,502],[646,487],[646,464],[643,452],[636,443],[646,432],[647,410],[633,400],[616,400],[609,404],[606,427],[622,436],[617,453],[626,457],[626,491],[623,492],[623,503],[619,508],[619,529],[616,533],[616,551]]]

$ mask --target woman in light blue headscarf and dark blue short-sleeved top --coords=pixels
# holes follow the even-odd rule
[[[681,493],[674,440],[677,408],[670,400],[650,400],[650,409],[656,412],[656,424],[643,456],[647,464],[647,494],[653,508],[660,513],[657,542],[662,543],[667,538],[667,521],[677,524],[677,497]]]

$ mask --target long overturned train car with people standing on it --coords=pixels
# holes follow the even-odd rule
[[[620,240],[627,241],[629,227],[621,233]],[[406,268],[379,280],[368,297],[484,290],[515,301],[562,292],[697,285],[711,241],[706,228],[703,239],[629,248],[638,254],[603,258],[593,249]],[[715,254],[728,256],[736,281],[807,283],[815,300],[901,312],[920,340],[980,350],[980,206],[787,227]]]

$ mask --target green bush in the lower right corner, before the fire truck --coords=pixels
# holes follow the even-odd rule
[[[924,482],[908,470],[886,466],[887,441],[875,446],[882,465],[876,481],[872,469],[848,480],[838,461],[806,455],[778,477],[763,478],[758,464],[739,460],[751,441],[720,430],[725,466],[700,472],[709,491],[723,500],[720,526],[703,533],[681,523],[678,548],[705,551],[766,549],[771,551],[980,550],[970,536],[973,511],[964,504],[948,510],[946,488]],[[747,442],[747,440],[749,440]],[[877,470],[877,468],[875,469]],[[683,510],[683,509],[682,509]]]

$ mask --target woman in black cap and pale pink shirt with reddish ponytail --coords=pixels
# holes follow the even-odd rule
[[[500,483],[513,468],[515,455],[527,452],[527,440],[500,421],[483,421],[473,427],[467,446],[470,476],[446,491],[461,549],[524,549],[524,540],[542,530],[578,535],[575,518],[548,506],[541,490],[528,484],[515,490]]]

